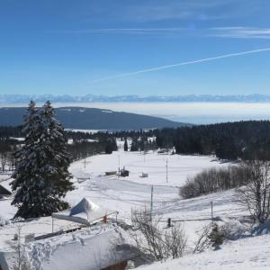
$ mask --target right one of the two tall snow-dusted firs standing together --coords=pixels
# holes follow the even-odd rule
[[[60,211],[67,208],[65,197],[73,190],[70,181],[72,176],[68,172],[71,157],[67,153],[67,139],[61,124],[55,119],[55,112],[49,101],[44,104],[41,112],[41,137],[39,151],[42,157],[40,175],[47,183],[46,212]]]

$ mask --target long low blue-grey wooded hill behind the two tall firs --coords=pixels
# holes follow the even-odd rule
[[[0,126],[22,124],[25,112],[23,107],[0,108]],[[144,130],[188,125],[148,115],[83,107],[56,108],[56,118],[66,129],[74,130]]]

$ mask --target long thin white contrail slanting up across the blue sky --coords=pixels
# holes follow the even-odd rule
[[[220,56],[213,57],[213,58],[203,58],[203,59],[199,59],[199,60],[176,63],[173,65],[166,65],[166,66],[162,66],[162,67],[151,67],[151,68],[147,68],[147,69],[141,69],[138,71],[121,73],[121,74],[115,75],[115,76],[106,76],[106,77],[91,81],[89,84],[92,85],[92,84],[95,84],[98,82],[108,81],[108,80],[118,78],[118,77],[123,77],[123,76],[132,76],[132,75],[137,75],[140,73],[148,73],[148,72],[153,72],[153,71],[162,70],[162,69],[171,68],[171,67],[193,65],[193,64],[202,63],[202,62],[210,62],[210,61],[218,60],[221,58],[232,58],[232,57],[242,56],[242,55],[246,55],[246,54],[253,54],[253,53],[258,53],[258,52],[269,51],[269,50],[270,50],[270,48],[246,50],[246,51],[241,51],[241,52],[237,52],[237,53],[224,54],[224,55],[220,55]]]

